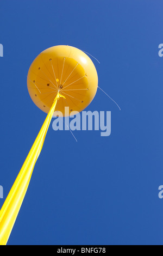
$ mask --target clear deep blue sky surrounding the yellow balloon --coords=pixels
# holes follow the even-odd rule
[[[52,124],[8,245],[162,245],[162,1],[1,1],[1,175],[7,197],[46,114],[27,90],[54,45],[93,54],[99,86],[86,110],[111,111],[111,136]],[[4,199],[0,199],[2,206]]]

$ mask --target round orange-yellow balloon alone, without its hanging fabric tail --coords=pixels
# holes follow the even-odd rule
[[[98,75],[92,60],[76,47],[59,45],[48,48],[36,57],[27,78],[30,97],[37,107],[48,113],[59,92],[55,111],[64,116],[83,111],[93,100]],[[65,113],[69,107],[69,114]]]

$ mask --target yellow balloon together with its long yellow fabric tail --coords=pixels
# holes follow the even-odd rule
[[[70,115],[72,111],[82,111],[95,97],[98,76],[84,52],[70,46],[54,46],[34,60],[27,84],[36,106],[48,115],[0,211],[0,245],[8,242],[54,111],[64,115],[65,106],[70,108]]]

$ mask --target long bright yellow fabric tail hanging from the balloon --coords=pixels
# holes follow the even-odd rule
[[[33,173],[35,163],[41,153],[45,137],[51,123],[55,107],[59,97],[64,97],[57,94],[51,110],[49,111],[45,122],[43,123],[39,135],[37,136],[32,149],[30,150],[26,161],[24,162],[20,173],[18,174],[14,185],[12,186],[7,199],[5,200],[0,211],[0,245],[6,245],[11,234],[12,228],[16,221],[18,212],[20,211],[24,196],[26,195],[30,178]]]

